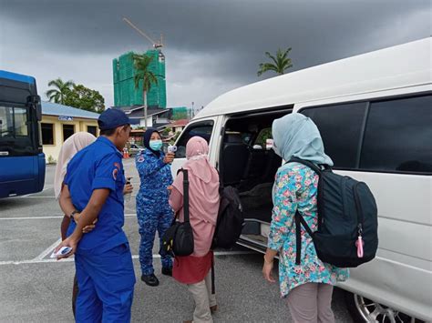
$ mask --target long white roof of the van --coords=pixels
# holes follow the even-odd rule
[[[196,118],[430,84],[431,48],[427,37],[242,86],[211,101]]]

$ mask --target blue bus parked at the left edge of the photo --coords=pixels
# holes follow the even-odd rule
[[[41,118],[36,79],[0,70],[0,198],[44,188]]]

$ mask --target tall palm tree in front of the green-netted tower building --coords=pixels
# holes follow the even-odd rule
[[[144,126],[147,129],[147,93],[149,92],[151,86],[158,84],[158,78],[149,70],[149,65],[152,57],[143,55],[134,56],[134,65],[135,65],[135,89],[139,88],[139,85],[142,84],[142,98],[143,98],[143,106],[144,106]]]

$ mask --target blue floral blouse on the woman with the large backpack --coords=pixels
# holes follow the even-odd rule
[[[295,211],[303,215],[313,231],[317,229],[316,196],[318,176],[298,163],[285,164],[276,173],[273,186],[273,217],[268,247],[279,251],[279,281],[282,297],[305,283],[335,285],[349,277],[347,268],[323,263],[317,256],[314,242],[302,227],[302,261],[295,265]]]

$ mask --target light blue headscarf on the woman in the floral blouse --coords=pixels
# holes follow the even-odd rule
[[[283,116],[273,121],[273,149],[285,161],[293,157],[315,164],[333,166],[325,155],[323,139],[314,121],[299,113]]]

